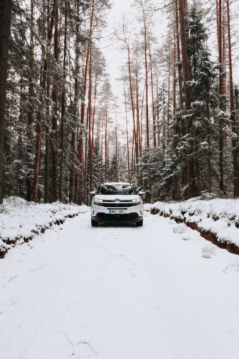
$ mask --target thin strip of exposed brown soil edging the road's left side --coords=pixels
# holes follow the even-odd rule
[[[58,219],[56,220],[55,222],[49,222],[48,225],[44,225],[42,227],[39,227],[37,230],[35,229],[32,229],[32,233],[33,235],[32,236],[29,236],[29,237],[15,237],[15,238],[6,238],[5,243],[6,244],[17,244],[17,241],[19,241],[20,239],[23,239],[25,243],[28,243],[29,241],[32,241],[32,239],[34,238],[34,236],[37,234],[40,234],[40,233],[44,233],[46,229],[52,227],[53,225],[60,225],[60,224],[63,224],[65,222],[65,220],[67,218],[73,218],[75,216],[78,216],[78,214],[81,213],[81,212],[78,212],[78,213],[75,213],[75,214],[68,214],[67,216],[64,216],[62,219]],[[13,247],[15,247],[15,245]],[[11,247],[11,248],[13,248]],[[8,252],[9,249],[11,248],[6,248],[5,250],[0,250],[0,259],[3,259],[5,254]]]

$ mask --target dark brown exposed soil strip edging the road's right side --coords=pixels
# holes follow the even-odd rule
[[[158,214],[159,211],[154,209],[154,210],[150,211],[150,213]],[[209,230],[200,228],[196,223],[185,222],[185,219],[182,220],[181,218],[180,219],[175,218],[166,213],[163,213],[162,211],[159,213],[159,215],[164,216],[165,218],[169,217],[170,219],[174,219],[177,223],[185,223],[191,229],[196,229],[200,233],[201,237],[205,238],[207,241],[210,241],[213,244],[216,244],[216,246],[218,246],[219,248],[226,249],[230,253],[239,255],[239,247],[235,243],[230,243],[230,242],[227,242],[226,240],[221,241],[221,239],[219,239],[215,233],[212,233]]]

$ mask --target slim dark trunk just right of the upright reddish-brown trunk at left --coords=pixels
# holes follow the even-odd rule
[[[63,157],[64,157],[64,117],[66,111],[66,35],[67,35],[67,7],[68,2],[65,0],[65,28],[64,28],[64,55],[63,55],[63,90],[61,104],[61,159],[60,159],[60,178],[59,178],[59,200],[62,202],[62,186],[63,186]]]

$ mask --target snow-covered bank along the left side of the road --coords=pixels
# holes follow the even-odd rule
[[[8,197],[0,205],[0,258],[15,244],[28,242],[53,224],[62,224],[67,217],[85,213],[85,205],[37,204],[20,197]]]

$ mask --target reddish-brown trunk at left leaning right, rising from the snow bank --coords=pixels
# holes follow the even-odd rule
[[[46,93],[46,81],[47,81],[47,71],[49,68],[49,49],[52,40],[52,31],[53,31],[53,24],[54,24],[54,16],[56,10],[56,1],[53,0],[52,6],[52,13],[51,13],[51,21],[47,31],[47,51],[46,51],[46,58],[44,61],[44,70],[43,70],[43,77],[42,77],[42,97],[43,94]],[[33,202],[37,202],[37,186],[38,186],[38,173],[39,173],[39,158],[40,158],[40,140],[42,135],[42,117],[43,117],[43,98],[42,103],[40,103],[39,110],[38,110],[38,118],[37,118],[37,143],[35,149],[35,165],[34,165],[34,180],[33,180],[33,191],[32,191],[32,200]]]

